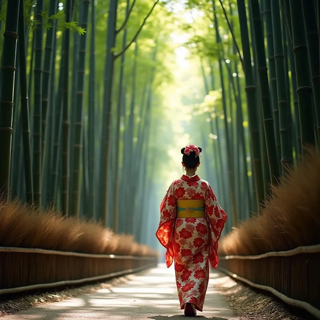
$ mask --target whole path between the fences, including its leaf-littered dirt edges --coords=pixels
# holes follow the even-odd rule
[[[0,302],[1,316],[4,320],[184,318],[174,269],[164,265],[106,283]],[[305,320],[290,314],[282,303],[236,283],[217,270],[210,271],[204,312],[198,312],[198,318]]]

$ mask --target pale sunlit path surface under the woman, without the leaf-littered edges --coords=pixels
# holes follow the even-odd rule
[[[210,271],[204,312],[200,319],[238,320],[219,292],[215,283],[226,276],[216,270]],[[200,317],[199,317],[200,316]],[[62,319],[183,319],[180,310],[173,267],[160,264],[127,277],[127,281],[84,294],[69,300],[43,304],[20,311],[5,320],[62,320]]]

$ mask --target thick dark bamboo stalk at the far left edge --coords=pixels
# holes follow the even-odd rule
[[[12,108],[14,74],[18,38],[20,0],[7,3],[6,24],[3,44],[3,66],[0,102],[0,141],[3,154],[0,157],[0,199],[9,200],[10,156],[12,139]]]

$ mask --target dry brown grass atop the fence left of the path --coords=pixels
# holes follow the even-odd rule
[[[53,209],[41,212],[19,201],[0,203],[0,246],[82,253],[157,256],[147,245],[102,225],[64,217]]]

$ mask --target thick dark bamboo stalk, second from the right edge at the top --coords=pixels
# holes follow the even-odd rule
[[[299,104],[299,119],[301,144],[315,144],[312,115],[312,88],[310,87],[308,64],[308,47],[305,38],[303,13],[300,1],[290,0],[290,14],[293,40],[293,53],[297,77],[297,96]],[[304,154],[302,150],[302,154]]]

